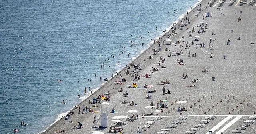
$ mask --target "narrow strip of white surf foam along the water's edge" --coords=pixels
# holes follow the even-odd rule
[[[196,3],[194,4],[194,7],[191,6],[191,7],[192,7],[192,10],[197,7],[197,4],[200,4],[200,3],[205,2],[205,1],[206,1],[206,0],[198,0],[198,2],[196,2]],[[206,6],[202,6],[202,8],[203,8],[203,7],[206,7]],[[184,12],[184,15],[182,14],[182,15],[178,16],[178,19],[177,19],[176,21],[172,22],[173,26],[172,26],[172,24],[171,24],[171,25],[168,26],[166,29],[164,29],[164,30],[166,30],[166,33],[165,33],[165,34],[170,33],[170,30],[172,30],[171,27],[175,27],[175,26],[176,26],[178,23],[180,23],[186,16],[190,16],[190,15],[193,13],[192,10],[190,10],[190,11],[189,11],[189,10],[190,10],[190,9],[188,8],[188,9]],[[188,14],[186,14],[186,12],[188,12]],[[196,11],[195,11],[195,12],[196,12]],[[167,29],[168,29],[168,30],[167,30]],[[178,31],[178,32],[180,32],[180,31]],[[177,33],[177,35],[179,35],[179,33]],[[148,51],[150,51],[150,48],[154,47],[154,45],[157,44],[157,42],[159,41],[159,39],[162,39],[162,38],[164,38],[165,36],[166,36],[166,35],[164,35],[164,33],[162,32],[162,33],[160,33],[159,35],[157,35],[156,37],[154,37],[154,39],[156,39],[156,43],[154,43],[153,40],[150,41],[150,43],[148,44],[148,47],[147,47],[146,49],[141,50],[142,53],[140,53],[140,55],[138,55],[138,56],[136,56],[136,57],[132,57],[132,58],[131,58],[131,61],[128,62],[127,65],[129,65],[130,63],[136,62],[141,56],[144,56],[145,53],[147,53]],[[176,36],[176,35],[174,35],[174,36]],[[174,37],[174,36],[171,36],[171,37]],[[172,42],[173,42],[173,41],[172,41]],[[162,44],[162,46],[163,46],[163,44]],[[133,58],[134,58],[134,59],[133,59]],[[125,68],[126,68],[126,66],[122,67],[122,69],[118,69],[119,71],[116,70],[116,72],[120,73],[120,72],[122,72],[122,71],[125,71]],[[106,86],[106,84],[108,84],[108,83],[110,83],[111,81],[113,81],[113,80],[114,80],[114,77],[116,77],[116,73],[115,73],[115,74],[113,73],[113,75],[114,75],[114,76],[113,76],[113,79],[111,79],[111,77],[109,77],[109,78],[108,78],[109,80],[108,80],[108,81],[105,81],[105,82],[102,83],[102,84],[100,84],[100,87],[96,87],[96,88],[92,89],[93,95],[94,95],[95,93],[99,92],[100,89],[102,89],[104,86]],[[89,96],[87,96],[86,98],[82,99],[81,102],[79,102],[79,103],[76,104],[75,106],[82,105],[82,103],[86,103],[85,101],[87,101],[87,99],[90,98],[91,96],[92,96],[92,94],[89,95]],[[84,96],[82,96],[82,97],[84,97]],[[70,110],[68,110],[67,112],[60,113],[60,114],[57,114],[57,115],[66,115],[66,114],[69,113],[71,110],[73,110],[73,109],[75,108],[75,106],[74,106],[73,108],[71,108]],[[57,118],[57,119],[54,121],[54,123],[50,124],[50,125],[46,128],[46,130],[43,130],[42,132],[39,132],[38,134],[45,134],[47,130],[49,130],[53,125],[55,125],[56,123],[58,123],[60,120],[61,120],[61,117],[60,117],[60,118]]]

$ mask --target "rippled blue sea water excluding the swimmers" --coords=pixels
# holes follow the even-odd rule
[[[14,128],[36,134],[81,102],[77,94],[86,97],[84,87],[96,90],[100,75],[109,78],[135,49],[147,49],[197,0],[0,2],[0,134]],[[28,126],[20,126],[22,120]]]

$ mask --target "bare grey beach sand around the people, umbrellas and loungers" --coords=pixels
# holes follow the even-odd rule
[[[103,130],[92,128],[93,117],[96,115],[96,120],[98,120],[98,118],[100,118],[100,112],[78,114],[78,110],[76,109],[69,120],[59,120],[43,132],[43,134],[52,134],[55,130],[66,130],[64,134],[91,134],[92,131],[98,130],[106,134],[110,126],[114,124],[114,122],[111,122],[112,117],[118,115],[131,116],[131,113],[126,113],[128,110],[138,110],[135,114],[138,114],[141,124],[144,125],[152,117],[141,117],[145,113],[149,114],[158,110],[157,108],[145,109],[144,107],[150,105],[150,102],[153,102],[154,105],[156,105],[156,103],[162,99],[168,100],[168,102],[165,102],[168,105],[168,109],[165,109],[164,112],[160,112],[160,116],[166,117],[157,121],[155,125],[150,125],[150,128],[147,128],[146,131],[142,133],[155,134],[156,132],[160,132],[161,128],[165,128],[166,125],[176,120],[177,117],[173,116],[180,115],[181,112],[176,112],[178,106],[184,106],[187,110],[186,112],[182,112],[182,115],[194,116],[190,116],[187,120],[184,120],[182,124],[178,124],[176,128],[173,128],[168,133],[185,134],[186,131],[198,124],[200,120],[204,120],[205,115],[216,114],[217,116],[200,131],[197,131],[196,134],[207,133],[208,130],[213,128],[218,122],[230,115],[254,114],[256,111],[256,47],[255,44],[250,44],[250,42],[256,43],[256,24],[254,23],[254,20],[256,19],[256,6],[248,6],[244,4],[243,6],[228,7],[227,4],[224,4],[221,7],[223,10],[220,10],[219,12],[219,10],[215,9],[218,5],[206,9],[205,7],[208,5],[207,3],[208,1],[205,0],[201,2],[203,11],[198,12],[197,8],[194,8],[195,12],[190,12],[185,16],[190,18],[192,24],[185,26],[183,30],[175,30],[177,34],[168,38],[172,40],[171,43],[175,43],[176,41],[182,41],[181,38],[184,36],[184,40],[188,41],[188,44],[190,44],[190,49],[184,49],[186,43],[181,43],[183,47],[179,47],[181,44],[161,44],[162,48],[160,53],[152,55],[152,49],[159,50],[158,45],[153,44],[149,49],[132,61],[135,65],[141,63],[142,70],[138,72],[139,75],[148,73],[150,78],[140,77],[140,80],[134,81],[130,75],[125,74],[127,69],[125,68],[119,72],[122,75],[121,78],[114,77],[114,79],[108,81],[100,87],[98,91],[88,97],[88,99],[78,104],[78,106],[80,105],[81,107],[85,104],[95,111],[100,111],[100,105],[97,104],[99,107],[95,108],[92,107],[92,104],[89,105],[88,101],[92,100],[93,97],[98,97],[98,95],[110,91],[111,100],[107,101],[110,103],[108,106],[108,128]],[[216,3],[213,5],[215,4]],[[236,3],[234,3],[234,5],[235,4]],[[208,11],[210,11],[212,17],[205,18],[204,16]],[[242,13],[240,13],[240,11],[242,11]],[[195,16],[197,13],[199,14],[198,17]],[[224,15],[221,15],[221,13]],[[238,22],[238,17],[241,18],[241,22]],[[203,18],[204,20],[202,20]],[[205,29],[206,33],[204,34],[197,33],[200,29],[197,25],[200,25],[200,22],[208,24],[208,29]],[[192,37],[188,37],[190,33],[185,29],[189,28],[192,30],[193,27],[195,33],[192,33]],[[232,30],[233,32],[231,32]],[[212,35],[212,32],[214,35]],[[168,35],[168,33],[166,34]],[[196,45],[191,45],[191,41],[195,39],[194,36],[196,35],[200,37],[198,37],[199,41],[194,41],[194,43],[204,42],[205,48],[200,48],[200,45],[198,45],[198,48],[196,49]],[[241,39],[237,40],[239,37]],[[211,48],[213,48],[214,51],[209,50],[210,38],[212,38]],[[231,39],[230,45],[227,45],[227,40],[229,38]],[[163,36],[162,41],[164,39],[167,39],[167,36]],[[161,39],[159,40],[162,43]],[[166,48],[168,48],[168,51],[164,51]],[[180,50],[183,51],[183,55],[167,57],[170,55],[170,52],[179,52]],[[190,51],[190,57],[188,57],[188,51]],[[191,57],[193,53],[196,53],[197,56]],[[213,53],[214,57],[210,58],[210,54],[206,53]],[[172,55],[173,54],[175,53],[172,53]],[[148,59],[150,55],[152,56],[152,59]],[[223,59],[224,55],[226,56],[226,59]],[[161,61],[160,56],[166,59],[165,63],[163,63],[166,68],[160,68],[160,66],[157,65],[157,63]],[[177,65],[177,59],[182,59],[185,65]],[[152,67],[157,67],[159,71],[155,71],[151,74],[152,71],[150,70]],[[204,69],[207,69],[208,72],[202,73]],[[133,68],[131,67],[130,70],[133,70]],[[188,78],[182,79],[183,73],[187,74]],[[212,77],[215,77],[215,81],[212,81]],[[126,82],[122,85],[114,84],[114,81],[121,80],[122,78],[125,78]],[[169,80],[171,84],[157,84],[166,79]],[[191,80],[194,79],[199,79],[200,81],[191,83]],[[154,87],[128,88],[132,83],[136,83],[140,87],[143,87],[145,84],[153,85]],[[195,87],[187,87],[189,85],[195,85]],[[162,95],[162,88],[164,86],[166,89],[170,89],[171,94]],[[118,92],[121,87],[124,91]],[[152,91],[153,89],[156,89],[157,92],[150,93],[152,99],[144,99],[147,96],[147,93],[144,92]],[[128,97],[122,96],[125,91],[129,93]],[[129,104],[120,104],[124,100],[127,102],[134,101],[136,105],[129,106]],[[180,100],[187,101],[187,103],[175,103]],[[116,113],[110,113],[112,108],[115,109]],[[156,113],[157,112],[154,112],[154,116],[156,116]],[[230,120],[235,117],[236,116],[232,117]],[[243,116],[237,122],[232,124],[232,126],[226,128],[224,133],[232,133],[232,130],[238,127],[244,120],[248,120],[248,117],[249,116]],[[124,121],[124,119],[122,120]],[[228,122],[230,120],[228,120]],[[73,123],[68,123],[68,121],[72,121]],[[83,124],[83,128],[72,129],[74,126],[78,126],[78,122]],[[218,130],[215,130],[215,132],[218,132],[223,126],[228,124],[228,122],[219,126]],[[100,120],[97,122],[96,126],[100,126]],[[137,120],[129,122],[124,126],[124,133],[135,134],[138,126]],[[243,133],[244,132],[256,132],[255,124],[251,124],[250,127],[243,130]]]

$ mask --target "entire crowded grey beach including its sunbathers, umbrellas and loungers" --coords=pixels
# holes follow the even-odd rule
[[[42,134],[255,133],[256,3],[240,2],[202,0]]]

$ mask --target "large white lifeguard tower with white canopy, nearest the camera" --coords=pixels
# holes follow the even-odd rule
[[[103,102],[101,105],[101,128],[108,127],[108,102]]]

